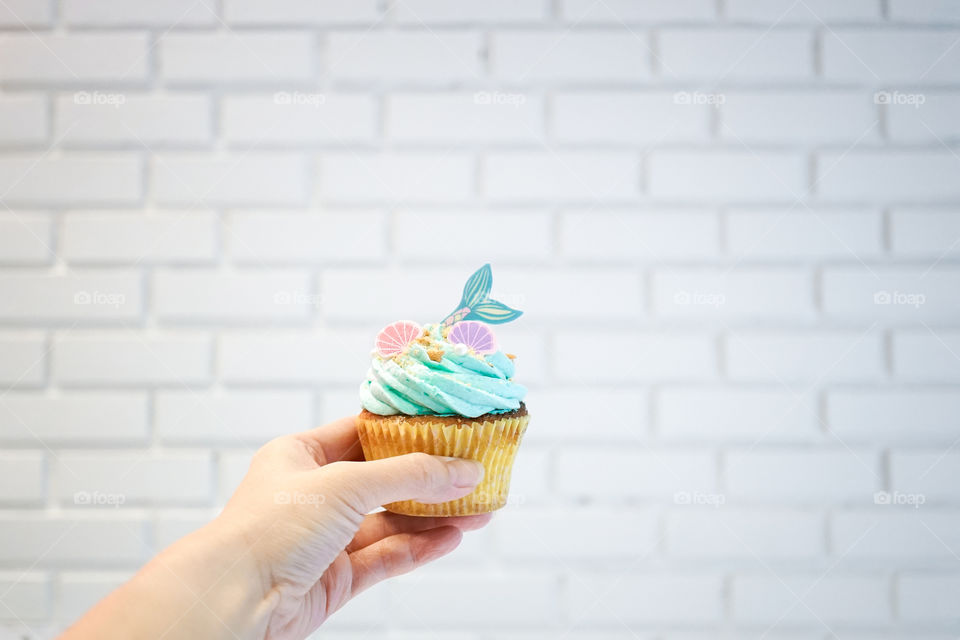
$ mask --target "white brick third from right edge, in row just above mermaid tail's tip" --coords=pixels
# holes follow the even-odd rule
[[[560,253],[591,262],[713,258],[719,227],[709,210],[571,211],[560,216]]]

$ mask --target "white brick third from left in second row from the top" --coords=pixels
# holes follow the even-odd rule
[[[447,83],[481,75],[481,40],[470,31],[334,32],[324,72],[334,78]]]

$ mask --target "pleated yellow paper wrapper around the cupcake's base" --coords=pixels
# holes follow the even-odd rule
[[[415,500],[383,505],[412,516],[465,516],[495,511],[507,503],[510,472],[530,415],[448,424],[431,416],[357,418],[357,433],[367,460],[422,451],[470,458],[483,463],[483,480],[458,500],[426,504]]]

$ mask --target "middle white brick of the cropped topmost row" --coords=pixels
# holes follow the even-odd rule
[[[407,0],[393,13],[401,24],[514,24],[544,20],[550,9],[546,0]]]

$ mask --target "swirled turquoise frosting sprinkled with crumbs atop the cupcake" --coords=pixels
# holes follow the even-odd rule
[[[520,407],[527,390],[513,382],[514,364],[502,351],[481,355],[446,339],[439,324],[390,357],[373,352],[360,385],[363,408],[378,415],[460,415],[476,418]]]

